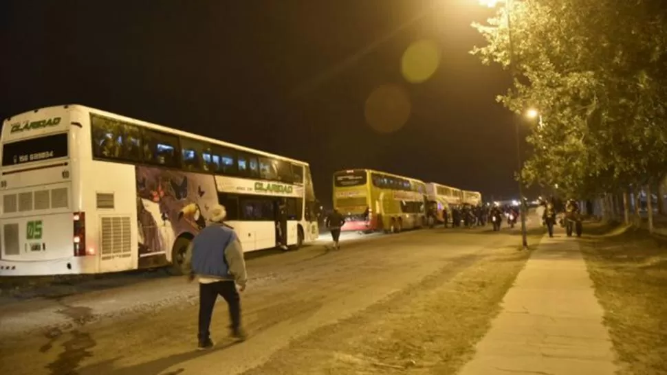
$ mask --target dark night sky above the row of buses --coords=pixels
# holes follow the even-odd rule
[[[347,168],[513,196],[512,115],[494,100],[509,79],[468,54],[488,15],[477,0],[5,0],[0,116],[78,103],[293,157],[327,203]],[[424,38],[440,64],[411,84],[401,58]],[[364,103],[387,83],[411,114],[383,134]]]

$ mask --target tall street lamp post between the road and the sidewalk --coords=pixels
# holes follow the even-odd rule
[[[489,8],[494,8],[502,0],[479,0],[479,3],[486,5]],[[514,94],[516,89],[514,88],[514,81],[516,80],[516,69],[514,67],[514,44],[512,43],[512,0],[505,0],[505,14],[507,16],[507,42],[510,49],[510,76],[512,78],[512,86],[510,90]],[[535,115],[538,115],[535,111]],[[514,116],[514,128],[516,130],[516,163],[518,167],[518,195],[519,201],[521,202],[521,242],[523,249],[528,249],[528,235],[526,231],[526,205],[525,198],[523,196],[523,176],[521,176],[521,169],[523,168],[523,160],[521,157],[521,122],[519,121],[518,116]]]

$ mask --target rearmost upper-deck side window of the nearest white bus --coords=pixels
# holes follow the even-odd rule
[[[142,160],[142,137],[137,126],[92,114],[90,124],[94,157]]]

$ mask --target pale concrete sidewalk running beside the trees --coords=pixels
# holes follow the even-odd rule
[[[460,375],[614,374],[609,332],[576,238],[545,236]]]

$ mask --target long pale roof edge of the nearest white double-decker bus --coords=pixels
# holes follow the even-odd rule
[[[161,131],[161,132],[164,132],[164,133],[171,133],[173,135],[179,135],[181,137],[190,137],[190,138],[193,138],[193,139],[197,139],[199,141],[206,141],[206,142],[211,143],[211,144],[218,144],[220,146],[226,146],[226,147],[230,147],[230,148],[235,148],[237,150],[252,152],[254,154],[265,156],[265,157],[274,157],[274,158],[277,158],[277,159],[283,159],[285,161],[289,161],[289,162],[292,162],[292,163],[295,163],[295,164],[301,164],[303,166],[308,166],[309,165],[305,161],[291,159],[289,157],[283,157],[281,155],[275,155],[275,154],[272,154],[270,152],[255,150],[254,148],[239,146],[237,144],[230,144],[230,143],[225,142],[225,141],[219,141],[218,139],[204,137],[203,135],[198,135],[198,134],[195,134],[195,133],[188,133],[186,131],[177,130],[177,129],[174,129],[174,128],[169,128],[168,126],[162,126],[162,125],[153,124],[151,122],[137,120],[137,119],[132,118],[132,117],[118,115],[118,113],[111,113],[111,112],[107,112],[107,111],[102,111],[101,109],[95,109],[95,108],[91,108],[89,106],[83,106],[81,104],[67,104],[67,105],[61,105],[61,106],[48,106],[48,107],[43,107],[43,108],[40,108],[40,109],[34,109],[32,111],[25,111],[23,113],[19,113],[17,115],[12,116],[12,117],[17,117],[17,116],[21,116],[21,115],[28,115],[29,113],[37,113],[37,112],[39,112],[41,110],[44,110],[44,109],[56,109],[56,108],[59,108],[59,107],[63,107],[63,109],[75,109],[75,108],[76,109],[81,109],[83,111],[87,111],[87,112],[90,112],[90,113],[95,113],[96,115],[102,115],[102,116],[106,116],[106,117],[113,117],[113,118],[116,118],[118,120],[122,120],[124,122],[131,122],[133,125],[143,126],[144,128],[150,128],[150,129]],[[3,122],[11,121],[12,117],[6,118]]]

